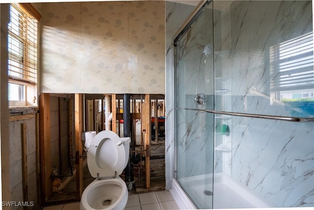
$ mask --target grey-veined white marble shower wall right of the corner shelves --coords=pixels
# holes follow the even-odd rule
[[[249,90],[271,94],[270,47],[313,31],[312,2],[233,1],[225,9],[232,111],[290,116],[287,106]],[[278,207],[313,207],[314,122],[233,117],[232,125],[232,177]]]

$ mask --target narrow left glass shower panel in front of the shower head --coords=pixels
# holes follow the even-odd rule
[[[199,209],[212,209],[214,116],[212,3],[175,40],[177,174]]]

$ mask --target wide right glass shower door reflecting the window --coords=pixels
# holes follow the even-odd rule
[[[314,203],[312,3],[213,2],[214,111],[224,113],[215,116],[215,178],[226,175],[276,207]],[[213,207],[262,208],[243,207],[248,196],[226,206],[232,190],[215,191]]]

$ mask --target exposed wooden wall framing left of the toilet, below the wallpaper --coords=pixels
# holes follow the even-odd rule
[[[52,119],[52,107],[51,98],[53,96],[58,97],[57,102],[53,106],[57,106],[57,110],[54,110],[54,117]],[[82,132],[82,94],[52,94],[52,93],[42,93],[40,95],[40,171],[41,171],[41,194],[42,194],[42,204],[51,205],[65,202],[79,201],[82,194],[82,143],[81,143],[81,132]],[[54,99],[53,99],[54,100]],[[64,101],[63,101],[64,100]],[[55,100],[54,100],[55,101]],[[62,102],[62,103],[61,103]],[[62,106],[61,106],[62,104]],[[66,116],[67,115],[67,116]],[[57,129],[54,128],[58,134],[56,136],[59,138],[57,150],[59,150],[59,158],[62,158],[64,153],[69,159],[59,160],[60,170],[57,175],[52,175],[52,146],[51,146],[51,121],[56,122],[59,126]],[[62,129],[67,129],[63,131]],[[62,133],[62,134],[61,134]],[[66,135],[66,136],[65,136]],[[60,142],[62,138],[62,144]],[[67,138],[66,138],[67,137]],[[67,141],[67,142],[65,142]],[[65,146],[67,144],[67,146]],[[61,148],[61,145],[62,148]],[[62,149],[62,150],[61,150]],[[68,149],[68,151],[66,150]],[[75,173],[72,170],[72,157],[73,150],[75,151]],[[62,151],[62,152],[61,152]],[[69,161],[69,164],[66,163]],[[62,168],[61,165],[64,167]],[[71,175],[68,172],[65,173],[66,166],[71,170]],[[61,170],[62,169],[62,170]],[[72,173],[73,171],[73,173]],[[52,182],[55,178],[60,178],[62,184],[65,185],[69,182],[68,180],[76,179],[76,191],[73,193],[61,194],[57,193],[55,186],[52,187]],[[69,178],[69,179],[68,179]],[[63,187],[63,186],[62,186]],[[64,189],[64,188],[63,188]],[[58,188],[59,190],[59,188]],[[61,190],[61,189],[60,189]],[[53,191],[53,193],[52,193]],[[58,191],[59,192],[59,191]],[[57,196],[60,195],[60,196]]]

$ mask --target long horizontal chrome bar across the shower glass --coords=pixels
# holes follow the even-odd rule
[[[269,120],[283,120],[283,121],[290,121],[290,122],[314,121],[314,118],[295,118],[295,117],[285,117],[285,116],[275,116],[275,115],[257,115],[257,114],[247,114],[247,113],[215,111],[215,110],[209,110],[209,109],[193,109],[193,108],[179,108],[179,109],[209,112],[209,113],[220,114],[220,115],[231,115],[231,116],[248,117],[248,118],[269,119]]]

